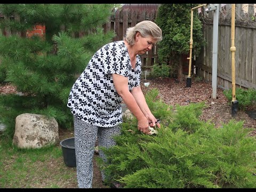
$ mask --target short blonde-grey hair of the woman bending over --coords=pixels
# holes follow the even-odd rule
[[[134,27],[127,28],[124,40],[129,45],[133,45],[137,32],[140,32],[142,37],[153,37],[156,42],[162,40],[162,30],[152,21],[141,21]]]

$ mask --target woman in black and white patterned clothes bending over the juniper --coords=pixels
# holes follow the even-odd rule
[[[123,41],[102,46],[73,85],[68,107],[74,115],[77,181],[79,188],[91,188],[92,158],[95,140],[111,147],[113,135],[121,133],[122,109],[127,108],[138,120],[138,130],[147,134],[148,126],[157,125],[140,89],[139,54],[162,40],[162,30],[152,21],[142,21],[128,28]],[[106,161],[99,150],[99,156]],[[102,180],[105,175],[101,172]]]

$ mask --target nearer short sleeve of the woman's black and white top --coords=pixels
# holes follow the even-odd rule
[[[123,52],[120,46],[113,44],[103,53],[105,54],[105,61],[103,62],[105,74],[118,74],[128,77],[127,56]]]

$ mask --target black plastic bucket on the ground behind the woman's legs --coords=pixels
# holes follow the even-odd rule
[[[76,166],[75,138],[60,141],[64,163],[69,167]]]

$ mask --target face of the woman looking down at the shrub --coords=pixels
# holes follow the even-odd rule
[[[142,37],[139,33],[136,35],[135,47],[138,54],[145,54],[151,50],[154,43],[156,43],[156,40],[153,37]]]

